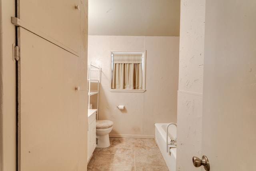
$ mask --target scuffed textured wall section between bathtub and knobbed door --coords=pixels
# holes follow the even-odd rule
[[[192,156],[201,157],[205,0],[181,0],[180,16],[176,169],[196,171]]]

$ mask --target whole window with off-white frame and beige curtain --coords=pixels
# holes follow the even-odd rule
[[[111,52],[111,90],[145,91],[146,52]]]

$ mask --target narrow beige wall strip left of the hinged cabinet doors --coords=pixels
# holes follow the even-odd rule
[[[0,0],[0,170],[16,170],[15,1]]]

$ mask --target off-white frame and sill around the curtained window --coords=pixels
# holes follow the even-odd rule
[[[114,89],[112,84],[112,53],[142,53],[142,89]],[[110,50],[110,92],[126,92],[126,93],[144,93],[146,91],[146,50]]]

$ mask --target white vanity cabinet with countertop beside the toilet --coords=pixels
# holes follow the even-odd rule
[[[96,111],[97,109],[88,109],[87,164],[96,147]]]

